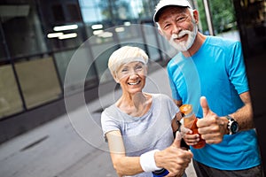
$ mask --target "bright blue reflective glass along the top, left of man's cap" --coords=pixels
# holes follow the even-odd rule
[[[122,20],[141,20],[153,17],[157,2],[153,0],[79,0],[85,23],[112,21],[113,26]]]

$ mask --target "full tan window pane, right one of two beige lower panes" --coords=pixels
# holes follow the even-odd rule
[[[37,58],[15,64],[27,108],[47,103],[61,96],[52,58]]]

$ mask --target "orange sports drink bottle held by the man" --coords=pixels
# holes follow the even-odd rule
[[[192,104],[183,104],[180,108],[180,112],[184,114],[184,127],[190,128],[192,130],[192,134],[199,134],[198,127],[197,127],[197,118],[193,112]],[[200,135],[200,134],[199,134]],[[205,146],[206,142],[201,138],[200,135],[200,142],[195,145],[192,145],[195,149],[200,149]]]

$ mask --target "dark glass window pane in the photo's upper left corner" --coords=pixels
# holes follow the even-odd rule
[[[11,57],[47,51],[34,3],[28,0],[27,4],[0,4],[1,7],[2,27]]]

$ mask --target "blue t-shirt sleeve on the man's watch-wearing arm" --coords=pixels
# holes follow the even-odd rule
[[[246,66],[241,49],[241,43],[236,42],[233,46],[231,61],[229,63],[229,78],[239,94],[248,91],[246,78]]]

